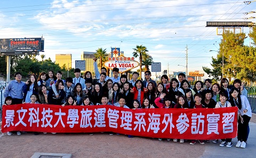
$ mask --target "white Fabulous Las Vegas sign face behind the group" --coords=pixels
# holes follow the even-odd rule
[[[119,68],[119,73],[124,73],[139,66],[139,63],[134,61],[134,57],[109,57],[108,61],[104,63],[105,67],[113,69],[114,67]]]

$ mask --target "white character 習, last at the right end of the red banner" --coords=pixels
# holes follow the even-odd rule
[[[222,123],[224,123],[223,133],[233,132],[234,117],[235,117],[235,112],[223,113],[223,117],[222,117]]]

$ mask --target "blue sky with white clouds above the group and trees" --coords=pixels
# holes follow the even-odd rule
[[[133,48],[143,45],[154,62],[161,62],[162,72],[186,72],[187,53],[188,72],[204,73],[202,66],[212,68],[221,41],[217,28],[205,27],[206,21],[256,22],[245,20],[255,17],[245,14],[255,8],[255,1],[241,0],[0,0],[0,39],[43,36],[40,55],[55,60],[55,54],[72,54],[72,65],[82,51],[117,47],[132,57]],[[247,35],[250,30],[242,31]],[[249,43],[246,38],[245,45]]]

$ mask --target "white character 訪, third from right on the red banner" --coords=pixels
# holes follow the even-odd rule
[[[191,117],[191,134],[203,134],[204,133],[204,115],[202,115],[202,113],[200,112],[199,115],[197,115],[197,113],[192,113],[192,117]],[[198,123],[197,123],[197,119],[198,119]],[[201,125],[201,131],[199,131],[200,129],[200,125]]]

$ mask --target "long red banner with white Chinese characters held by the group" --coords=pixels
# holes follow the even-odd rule
[[[237,108],[126,109],[115,106],[3,106],[2,132],[95,133],[155,138],[221,139],[237,133]]]

